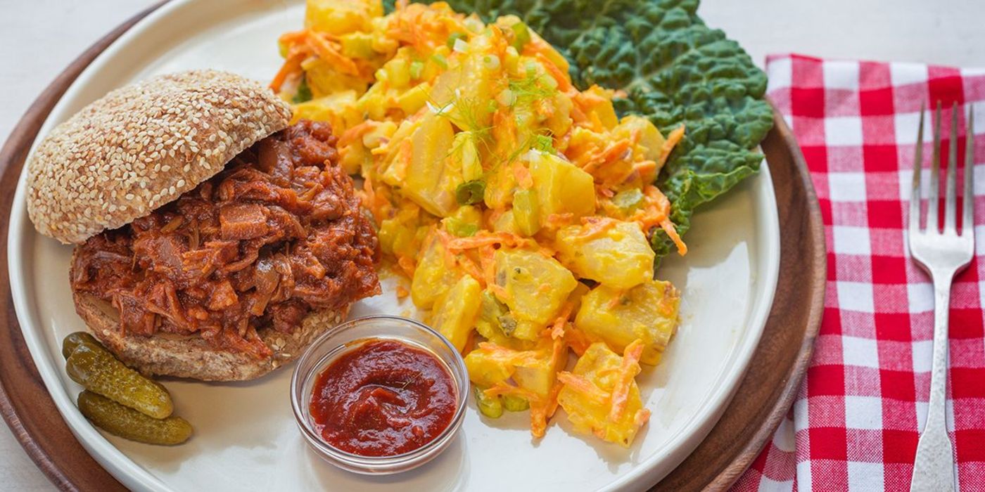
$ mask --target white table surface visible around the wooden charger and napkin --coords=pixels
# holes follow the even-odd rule
[[[0,2],[0,141],[76,56],[157,0]],[[985,65],[981,0],[704,0],[708,25],[739,40],[758,64],[767,53]],[[4,242],[6,243],[6,242]],[[54,487],[0,425],[0,490]]]

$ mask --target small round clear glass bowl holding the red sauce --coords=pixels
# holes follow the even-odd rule
[[[349,350],[374,339],[393,339],[422,348],[444,363],[455,381],[455,414],[448,427],[432,441],[414,451],[392,457],[364,457],[333,448],[314,429],[310,414],[311,391],[315,380],[329,364]],[[311,449],[325,461],[362,474],[390,474],[416,468],[438,456],[454,439],[469,394],[469,373],[454,345],[417,321],[398,316],[366,316],[347,321],[314,340],[297,361],[291,377],[291,406],[297,427]]]

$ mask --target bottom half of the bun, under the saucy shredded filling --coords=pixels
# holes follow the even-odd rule
[[[314,338],[335,327],[349,315],[342,309],[312,311],[291,334],[273,328],[257,330],[273,355],[256,358],[243,352],[222,350],[201,337],[158,334],[127,337],[119,329],[119,312],[94,295],[73,292],[75,310],[94,337],[124,364],[148,376],[173,376],[201,381],[246,381],[259,378],[296,359]]]

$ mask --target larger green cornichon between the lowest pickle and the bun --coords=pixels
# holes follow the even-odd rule
[[[109,400],[154,418],[171,414],[174,404],[164,387],[123,365],[99,345],[83,341],[65,364],[72,381]]]

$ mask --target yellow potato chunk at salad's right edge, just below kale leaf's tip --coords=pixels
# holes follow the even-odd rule
[[[633,287],[653,277],[653,249],[639,224],[620,220],[601,234],[585,237],[591,226],[564,227],[555,241],[561,261],[578,277],[616,288]]]

